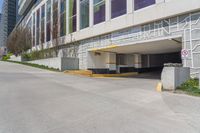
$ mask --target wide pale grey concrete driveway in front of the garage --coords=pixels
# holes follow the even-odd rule
[[[0,62],[0,133],[200,133],[200,98],[157,82]]]

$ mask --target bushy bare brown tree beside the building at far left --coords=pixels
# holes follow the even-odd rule
[[[32,37],[29,28],[19,26],[13,30],[7,39],[8,51],[15,55],[26,52],[31,46]]]

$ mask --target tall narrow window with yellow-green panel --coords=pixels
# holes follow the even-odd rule
[[[69,33],[76,31],[76,0],[69,0]]]

